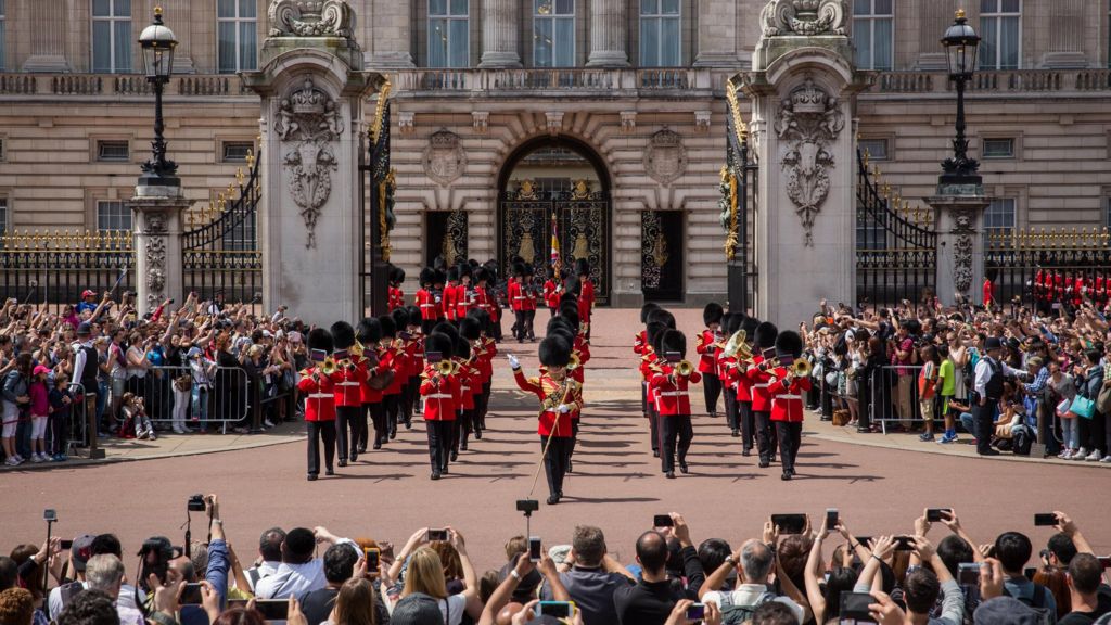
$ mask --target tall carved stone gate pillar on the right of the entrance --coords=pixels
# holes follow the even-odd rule
[[[750,131],[760,163],[755,212],[755,314],[780,328],[810,320],[818,301],[855,296],[854,99],[868,75],[852,66],[847,13],[800,10],[780,21],[769,4],[753,71]],[[797,3],[798,6],[798,3]]]

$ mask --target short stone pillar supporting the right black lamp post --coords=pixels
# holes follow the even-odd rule
[[[957,296],[983,304],[983,236],[980,217],[991,204],[983,188],[945,188],[925,198],[938,215],[938,297],[945,305],[955,304]]]

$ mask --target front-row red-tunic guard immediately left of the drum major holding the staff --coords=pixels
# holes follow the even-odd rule
[[[432,333],[424,339],[428,365],[421,374],[420,394],[424,398],[424,427],[428,430],[428,454],[432,463],[432,479],[448,472],[451,453],[451,430],[456,425],[459,380],[448,369],[454,344],[450,336]]]

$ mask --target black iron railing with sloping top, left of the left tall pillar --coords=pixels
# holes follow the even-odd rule
[[[262,197],[261,159],[247,155],[250,173],[220,194],[214,207],[186,212],[181,261],[186,292],[211,299],[223,291],[229,302],[262,301],[262,252],[258,247],[258,207]]]

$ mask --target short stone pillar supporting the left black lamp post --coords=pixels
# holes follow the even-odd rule
[[[193,204],[180,187],[136,187],[128,205],[133,214],[136,305],[139,316],[153,312],[169,298],[184,301],[181,265],[181,212]]]

